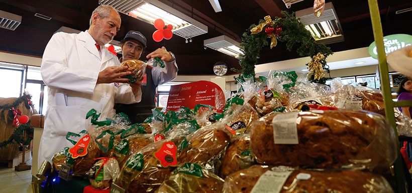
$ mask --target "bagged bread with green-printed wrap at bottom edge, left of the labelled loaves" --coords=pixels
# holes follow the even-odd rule
[[[156,193],[222,192],[225,181],[195,163],[183,163],[157,189]]]

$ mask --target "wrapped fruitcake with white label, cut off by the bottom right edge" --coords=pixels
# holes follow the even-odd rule
[[[315,171],[254,165],[230,174],[223,193],[393,193],[380,175],[360,170]]]

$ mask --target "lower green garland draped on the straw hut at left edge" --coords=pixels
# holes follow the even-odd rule
[[[26,140],[24,139],[24,131],[26,131]],[[0,142],[0,148],[6,147],[8,144],[13,143],[27,146],[30,144],[30,141],[33,140],[33,132],[34,128],[31,126],[30,121],[26,124],[21,124],[15,129],[8,140]]]

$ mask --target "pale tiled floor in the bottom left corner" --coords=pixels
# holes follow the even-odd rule
[[[2,165],[0,167],[0,193],[32,193],[31,172],[31,170],[15,171],[14,168]]]

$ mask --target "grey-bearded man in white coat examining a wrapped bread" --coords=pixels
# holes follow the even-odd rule
[[[115,114],[115,102],[141,100],[140,84],[123,84],[130,75],[120,67],[118,58],[105,49],[121,24],[120,15],[111,6],[97,7],[90,27],[79,34],[56,33],[43,54],[41,74],[49,87],[44,131],[40,141],[39,164],[51,161],[63,147],[72,146],[65,139],[68,131],[86,129],[86,113],[101,112],[100,119]]]

